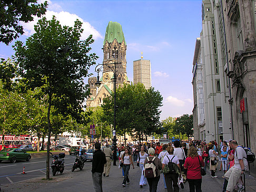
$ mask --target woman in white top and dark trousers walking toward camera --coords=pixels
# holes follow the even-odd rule
[[[125,152],[122,156],[121,163],[123,164],[123,171],[124,171],[124,180],[122,186],[125,187],[126,184],[130,184],[130,179],[128,177],[129,175],[129,170],[130,170],[130,165],[132,164],[133,169],[133,160],[132,160],[132,155],[130,153],[130,149],[126,147]]]

